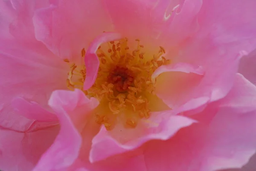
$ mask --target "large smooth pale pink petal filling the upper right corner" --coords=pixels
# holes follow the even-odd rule
[[[230,5],[231,4],[231,5]],[[222,99],[232,88],[239,59],[256,47],[256,3],[243,0],[209,0],[198,14],[200,29],[180,45],[172,61],[202,66],[204,79],[197,85],[195,95]],[[246,9],[245,11],[241,9]],[[237,21],[240,22],[237,22]]]

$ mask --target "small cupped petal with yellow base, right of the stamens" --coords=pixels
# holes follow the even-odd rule
[[[177,63],[159,67],[153,73],[152,80],[156,78],[157,96],[173,108],[201,95],[195,96],[193,91],[203,79],[202,75],[202,67]]]

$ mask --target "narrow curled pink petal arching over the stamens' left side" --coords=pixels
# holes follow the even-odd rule
[[[122,35],[114,32],[105,32],[96,37],[88,47],[84,57],[86,67],[86,77],[84,81],[84,90],[88,90],[95,82],[99,70],[99,58],[96,51],[100,44],[108,41],[116,41],[122,38]]]

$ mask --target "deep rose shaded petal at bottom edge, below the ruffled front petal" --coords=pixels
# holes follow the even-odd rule
[[[147,171],[201,171],[200,151],[206,128],[194,124],[179,130],[171,139],[143,145]]]

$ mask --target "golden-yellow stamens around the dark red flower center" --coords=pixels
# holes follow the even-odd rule
[[[110,41],[99,46],[96,54],[99,58],[99,72],[95,83],[89,90],[83,90],[86,68],[70,64],[67,87],[79,88],[85,95],[99,99],[95,109],[96,122],[111,130],[116,122],[125,127],[135,128],[140,118],[148,118],[152,111],[149,100],[159,100],[154,95],[154,82],[151,75],[160,66],[169,64],[162,55],[165,53],[160,46],[159,53],[151,57],[143,52],[144,46],[137,42],[134,50],[128,46],[128,39]],[[84,57],[82,49],[81,56]],[[70,63],[69,60],[64,60]]]

